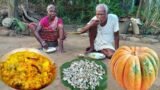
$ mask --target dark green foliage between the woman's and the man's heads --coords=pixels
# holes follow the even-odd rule
[[[56,6],[64,23],[86,23],[95,15],[96,1],[59,0]]]

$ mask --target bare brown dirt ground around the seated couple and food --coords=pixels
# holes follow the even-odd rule
[[[78,54],[84,53],[84,49],[89,45],[88,37],[83,37],[80,35],[68,34],[66,41],[64,42],[65,53],[51,53],[48,54],[57,64],[58,68],[65,62],[74,59]],[[160,43],[137,43],[130,41],[120,40],[120,46],[129,45],[129,46],[147,46],[154,49],[160,56]],[[0,36],[0,55],[4,55],[5,53],[16,49],[16,48],[38,48],[39,43],[33,36],[17,36],[17,37],[8,37],[8,36]],[[114,80],[111,75],[109,62],[110,60],[103,61],[107,65],[108,72],[108,88],[106,90],[123,90],[118,83]],[[58,69],[59,70],[59,69]],[[0,82],[0,90],[13,90],[12,88],[5,85],[3,82]],[[60,81],[60,75],[56,80],[50,84],[48,87],[43,90],[69,90],[69,88],[65,87]],[[160,90],[160,72],[159,76],[150,88],[150,90]]]

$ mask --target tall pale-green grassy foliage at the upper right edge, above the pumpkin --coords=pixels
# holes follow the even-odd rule
[[[160,0],[147,0],[143,2],[141,9],[141,19],[144,22],[145,34],[156,32],[153,28],[160,27]]]

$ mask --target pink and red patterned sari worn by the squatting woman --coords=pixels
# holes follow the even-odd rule
[[[59,24],[63,24],[62,19],[55,17],[53,21],[49,22],[49,17],[45,16],[40,20],[39,24],[42,26],[42,29],[39,33],[40,37],[47,42],[48,46],[57,46],[59,38],[59,31],[57,29],[57,26]],[[28,24],[28,28],[31,29],[34,33],[37,28],[37,24],[30,23]]]

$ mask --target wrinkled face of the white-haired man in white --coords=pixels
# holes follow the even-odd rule
[[[100,20],[100,23],[104,23],[107,19],[107,13],[104,7],[99,7],[96,10],[96,17]]]

